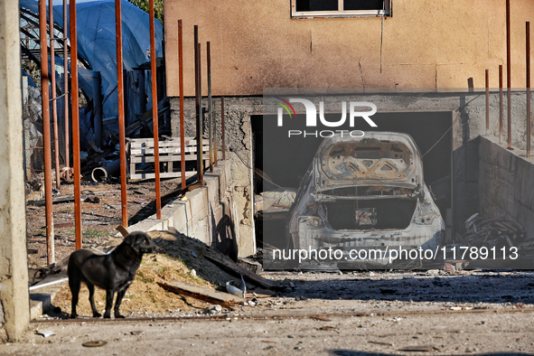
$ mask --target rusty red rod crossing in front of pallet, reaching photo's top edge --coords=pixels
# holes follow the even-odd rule
[[[154,0],[148,1],[150,11],[150,64],[152,71],[152,123],[154,127],[154,168],[155,168],[155,217],[162,219],[162,198],[159,176],[159,124],[157,117],[157,71],[155,68],[155,20]]]

